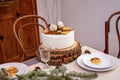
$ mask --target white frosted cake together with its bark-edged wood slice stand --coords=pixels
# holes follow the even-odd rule
[[[57,25],[50,24],[43,28],[41,42],[44,47],[51,48],[49,65],[66,64],[76,60],[81,55],[80,44],[74,38],[74,29],[64,26],[62,22]],[[38,60],[41,60],[39,53],[37,57]]]

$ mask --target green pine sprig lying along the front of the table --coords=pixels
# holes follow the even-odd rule
[[[23,75],[16,75],[16,80],[74,80],[74,78],[91,80],[97,76],[97,73],[79,73],[75,71],[68,71],[65,66],[60,66],[59,68],[52,69],[49,72],[38,70],[31,71]],[[0,80],[11,79],[9,79],[7,75],[1,75]]]

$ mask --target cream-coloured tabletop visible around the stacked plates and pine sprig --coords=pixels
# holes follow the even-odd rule
[[[89,50],[90,52],[97,52],[97,53],[102,53],[101,51],[98,51],[96,49],[93,49],[91,47],[88,47],[88,46],[83,46],[82,47],[82,53],[85,51],[85,50]],[[34,59],[36,60],[36,59]],[[37,61],[35,61],[37,62]],[[25,62],[27,64],[27,62]],[[111,70],[111,71],[105,71],[105,72],[97,72],[98,73],[98,77],[95,79],[95,80],[120,80],[120,59],[118,59],[118,66]],[[71,71],[78,71],[78,72],[92,72],[92,71],[88,71],[88,70],[85,70],[83,68],[81,68],[76,60],[71,62],[71,63],[68,63],[68,64],[63,64],[64,66],[66,66],[69,70]],[[74,66],[73,66],[74,65]],[[30,65],[29,66],[29,70],[33,70],[36,66],[40,66],[40,67],[43,67],[44,64],[43,63],[35,63],[33,65]],[[50,66],[51,69],[52,68],[55,68],[55,66]]]

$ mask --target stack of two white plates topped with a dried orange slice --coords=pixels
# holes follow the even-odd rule
[[[77,58],[80,67],[90,71],[109,71],[118,65],[118,59],[101,53],[82,54]]]

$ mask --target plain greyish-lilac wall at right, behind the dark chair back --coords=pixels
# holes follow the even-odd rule
[[[104,50],[104,22],[113,12],[120,11],[120,0],[62,0],[62,20],[75,29],[76,40]],[[114,27],[114,26],[113,26]],[[111,28],[112,34],[116,34]],[[111,54],[116,56],[118,43],[111,37]]]

